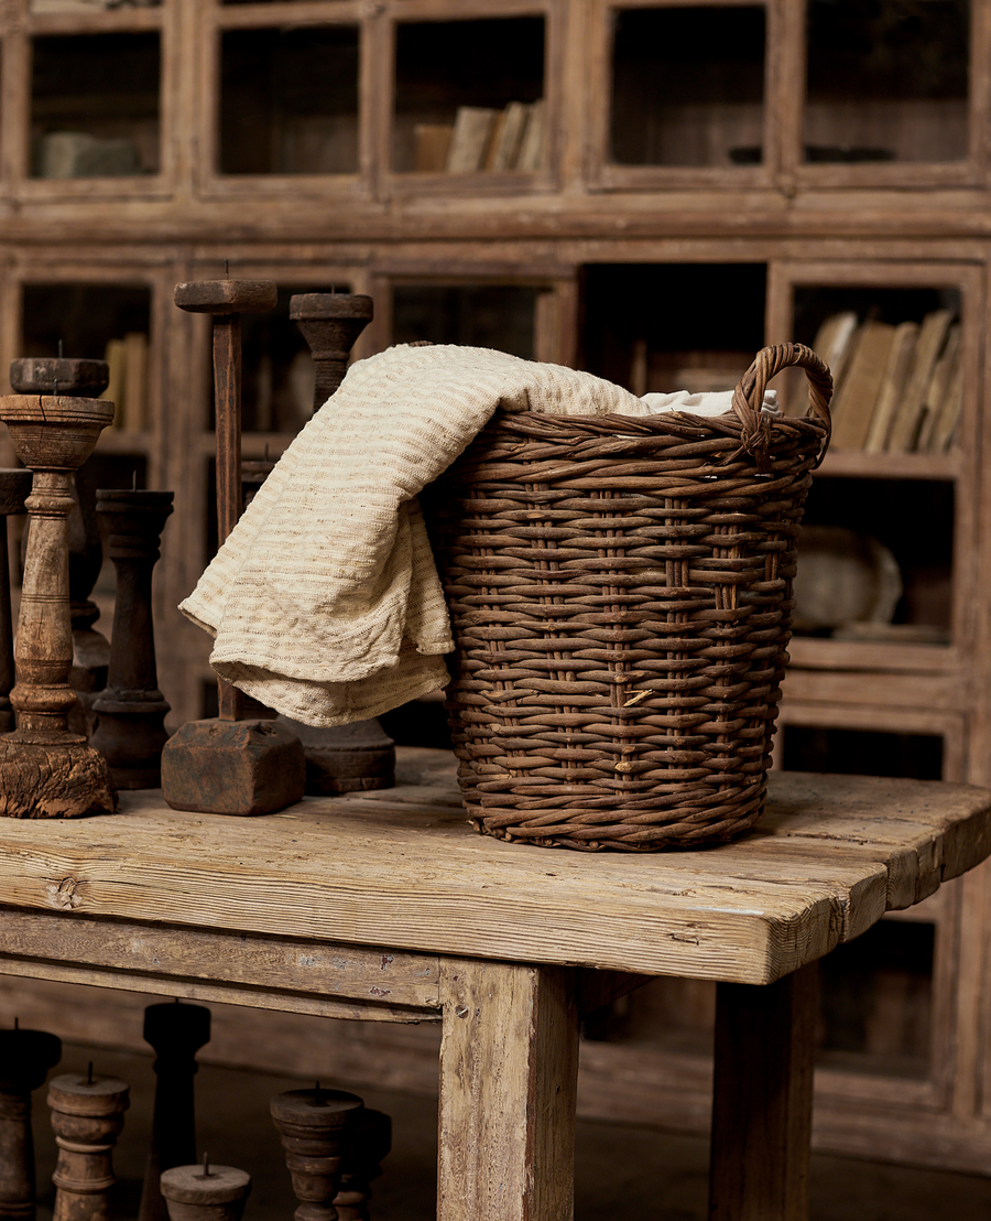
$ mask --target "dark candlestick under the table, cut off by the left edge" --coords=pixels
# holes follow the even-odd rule
[[[34,1217],[31,1094],[59,1063],[62,1044],[44,1031],[0,1031],[0,1217]]]

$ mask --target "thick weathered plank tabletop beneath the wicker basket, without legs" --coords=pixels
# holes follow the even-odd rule
[[[423,788],[411,783],[421,777]],[[156,792],[72,823],[0,825],[9,907],[768,983],[991,851],[991,794],[776,773],[758,828],[708,850],[585,856],[477,835],[442,752],[394,790],[267,818],[170,811]],[[77,926],[78,927],[78,926]],[[9,946],[0,927],[0,952]]]

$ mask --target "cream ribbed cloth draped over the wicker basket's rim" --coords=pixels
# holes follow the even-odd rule
[[[447,606],[417,493],[496,408],[716,414],[486,348],[389,348],[349,370],[179,607],[216,673],[309,725],[377,717],[448,681]]]

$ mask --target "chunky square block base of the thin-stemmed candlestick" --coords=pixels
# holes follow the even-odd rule
[[[190,720],[162,751],[162,796],[173,810],[270,814],[300,801],[306,761],[277,720]]]

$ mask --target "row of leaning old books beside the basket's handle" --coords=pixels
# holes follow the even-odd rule
[[[813,342],[830,366],[832,446],[867,453],[945,453],[963,404],[960,324],[936,309],[920,322],[830,315]]]

